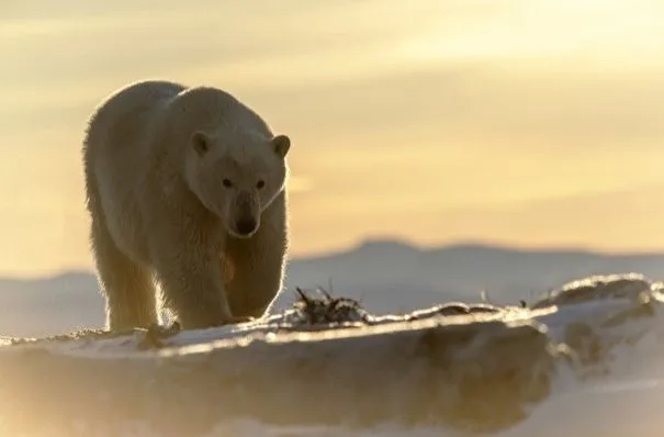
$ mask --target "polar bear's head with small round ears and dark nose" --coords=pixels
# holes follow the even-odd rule
[[[194,132],[187,157],[187,180],[201,203],[217,215],[227,232],[252,236],[261,213],[284,190],[286,135],[252,132]]]

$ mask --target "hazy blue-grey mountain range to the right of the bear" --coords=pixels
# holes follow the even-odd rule
[[[327,287],[331,278],[335,293],[362,296],[367,307],[382,313],[447,300],[479,300],[483,290],[494,302],[529,301],[588,274],[630,271],[664,279],[664,254],[604,255],[479,244],[425,249],[370,240],[348,251],[294,260],[288,284]]]

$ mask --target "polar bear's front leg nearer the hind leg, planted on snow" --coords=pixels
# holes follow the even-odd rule
[[[218,251],[187,234],[162,234],[168,237],[155,246],[153,258],[165,304],[184,329],[246,321],[230,313]]]

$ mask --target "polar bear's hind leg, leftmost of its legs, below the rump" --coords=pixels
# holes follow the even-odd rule
[[[91,243],[99,282],[106,299],[106,328],[124,330],[158,323],[151,272],[124,255],[104,223],[99,222],[92,223]]]

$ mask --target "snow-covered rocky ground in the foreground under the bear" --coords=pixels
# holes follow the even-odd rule
[[[659,436],[657,405],[616,381],[664,379],[663,290],[592,277],[530,305],[385,316],[301,291],[292,309],[232,327],[5,337],[0,433]]]

